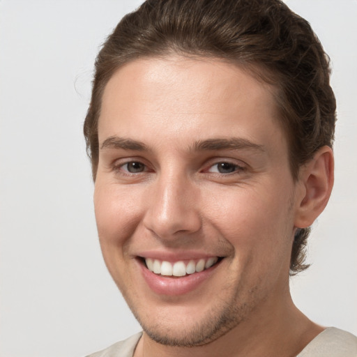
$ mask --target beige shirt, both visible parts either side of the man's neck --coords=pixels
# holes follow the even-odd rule
[[[142,333],[87,357],[132,357]],[[357,337],[339,328],[328,327],[296,357],[357,357]]]

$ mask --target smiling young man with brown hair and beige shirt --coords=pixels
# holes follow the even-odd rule
[[[102,254],[143,333],[92,356],[356,356],[289,294],[333,186],[329,73],[278,0],[149,0],[121,20],[84,133]]]

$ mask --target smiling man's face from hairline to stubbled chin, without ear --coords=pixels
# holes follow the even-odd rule
[[[204,344],[286,301],[298,190],[276,116],[268,86],[219,60],[139,59],[109,80],[100,245],[154,340]]]

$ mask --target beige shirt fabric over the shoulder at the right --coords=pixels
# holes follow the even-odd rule
[[[328,327],[314,338],[297,357],[357,357],[357,337]]]

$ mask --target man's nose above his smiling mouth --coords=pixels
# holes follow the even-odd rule
[[[184,175],[160,175],[151,185],[144,226],[161,239],[199,231],[199,188]]]

